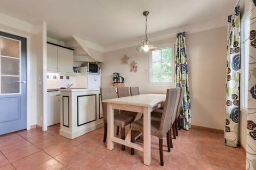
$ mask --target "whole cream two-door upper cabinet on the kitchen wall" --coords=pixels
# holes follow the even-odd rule
[[[73,49],[47,43],[47,71],[73,73]]]

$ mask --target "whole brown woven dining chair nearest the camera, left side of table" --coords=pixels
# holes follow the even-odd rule
[[[104,123],[104,137],[103,142],[106,142],[107,139],[107,103],[102,102],[102,100],[106,99],[113,99],[117,98],[116,96],[116,89],[115,88],[100,88],[100,96],[101,96],[101,105],[102,105],[102,112],[103,112],[103,123]],[[125,139],[125,126],[131,124],[135,119],[135,115],[130,113],[126,113],[125,111],[119,113],[117,109],[114,109],[114,125],[117,127],[121,127],[121,138]],[[118,130],[118,128],[117,128]],[[119,131],[119,130],[118,130]],[[125,150],[125,146],[122,145],[122,150]]]

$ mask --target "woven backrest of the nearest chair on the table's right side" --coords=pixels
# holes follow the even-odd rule
[[[179,98],[178,96],[177,88],[167,89],[164,110],[159,127],[159,131],[163,132],[163,134],[169,131],[172,126],[172,117],[173,114],[176,115],[177,111],[175,105],[177,103],[177,98]]]

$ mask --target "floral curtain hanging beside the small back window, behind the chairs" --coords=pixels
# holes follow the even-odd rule
[[[185,87],[182,111],[180,114],[180,127],[188,130],[191,127],[191,110],[185,37],[186,32],[177,33],[175,45],[175,83],[176,87]]]

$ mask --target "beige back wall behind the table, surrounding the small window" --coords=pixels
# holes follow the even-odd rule
[[[227,28],[187,35],[189,86],[191,92],[192,124],[223,130],[226,90],[226,37]],[[154,42],[155,45],[174,43],[175,38]],[[137,73],[131,73],[129,65],[121,64],[124,55],[129,64],[137,63]],[[135,47],[115,50],[104,54],[102,63],[102,87],[108,87],[113,72],[125,79],[125,86],[139,86],[142,93],[165,93],[170,85],[149,84],[148,56],[137,52]]]

